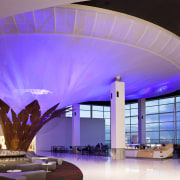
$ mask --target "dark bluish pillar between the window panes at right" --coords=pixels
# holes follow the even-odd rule
[[[146,112],[145,99],[138,100],[138,139],[139,144],[146,143]]]

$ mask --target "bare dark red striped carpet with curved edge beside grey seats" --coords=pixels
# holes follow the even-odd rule
[[[56,170],[46,174],[46,180],[82,180],[81,170],[74,164],[63,161],[62,165],[57,165]]]

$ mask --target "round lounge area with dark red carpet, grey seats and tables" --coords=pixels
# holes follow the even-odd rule
[[[47,158],[49,161],[47,162]],[[52,160],[52,161],[51,161]],[[20,163],[20,164],[19,164]],[[33,163],[23,161],[0,164],[0,180],[82,180],[81,170],[58,157],[47,156]]]

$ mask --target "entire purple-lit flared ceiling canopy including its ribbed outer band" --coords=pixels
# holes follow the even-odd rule
[[[109,100],[118,75],[126,99],[180,89],[179,37],[132,16],[68,5],[0,19],[0,32],[0,98],[13,107]]]

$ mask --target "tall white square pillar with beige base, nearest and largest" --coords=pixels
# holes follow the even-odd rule
[[[125,85],[111,84],[111,157],[125,159]]]

